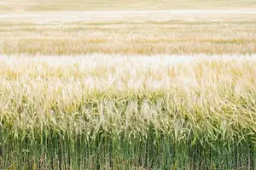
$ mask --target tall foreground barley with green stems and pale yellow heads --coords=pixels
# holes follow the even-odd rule
[[[0,62],[1,169],[255,168],[251,58]]]

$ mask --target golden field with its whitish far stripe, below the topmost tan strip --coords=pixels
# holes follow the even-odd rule
[[[253,10],[0,14],[1,54],[254,54]]]

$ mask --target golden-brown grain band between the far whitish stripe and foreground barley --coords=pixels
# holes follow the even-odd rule
[[[254,54],[254,22],[2,26],[2,54]]]

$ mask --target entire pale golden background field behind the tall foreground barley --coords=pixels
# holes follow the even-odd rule
[[[255,4],[3,1],[0,54],[254,54]]]

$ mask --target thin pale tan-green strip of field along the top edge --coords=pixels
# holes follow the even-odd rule
[[[256,0],[6,0],[0,11],[256,8]]]

